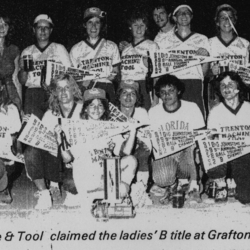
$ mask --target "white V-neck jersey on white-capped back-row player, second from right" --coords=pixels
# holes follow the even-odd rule
[[[168,43],[166,43],[164,49],[194,49],[199,48],[206,49],[209,52],[208,38],[204,35],[198,33],[191,33],[185,39],[182,39],[177,31],[173,32],[171,36],[168,37]],[[200,79],[203,80],[203,72],[201,65],[193,66],[184,70],[172,73],[179,79]]]

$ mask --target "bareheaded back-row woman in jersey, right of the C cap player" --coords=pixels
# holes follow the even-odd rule
[[[149,56],[148,53],[154,53],[158,46],[155,42],[147,39],[148,18],[144,13],[134,12],[128,20],[128,24],[132,38],[131,43],[122,51],[122,80],[134,80],[139,83],[144,99],[143,107],[149,110],[151,98],[150,89],[146,83],[148,73],[147,58]]]

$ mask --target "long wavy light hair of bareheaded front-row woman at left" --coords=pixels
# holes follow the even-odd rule
[[[59,81],[67,80],[71,88],[73,89],[73,95],[74,95],[74,101],[82,101],[82,94],[81,91],[74,80],[74,78],[66,73],[62,73],[58,76],[56,76],[50,84],[49,90],[50,90],[50,97],[49,97],[49,108],[52,110],[52,113],[59,115],[60,114],[60,103],[57,97],[57,83]]]

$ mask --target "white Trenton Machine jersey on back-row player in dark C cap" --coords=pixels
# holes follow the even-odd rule
[[[97,52],[95,62],[89,69]],[[70,51],[70,58],[74,67],[99,71],[105,73],[107,77],[112,72],[113,66],[121,61],[117,45],[105,39],[100,39],[95,45],[90,44],[87,40],[75,44]]]

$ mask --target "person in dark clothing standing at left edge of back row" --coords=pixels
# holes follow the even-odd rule
[[[19,49],[10,43],[13,31],[11,20],[6,15],[0,16],[0,81],[6,84],[12,102],[21,111],[21,86],[17,80]],[[17,92],[17,88],[19,94]],[[20,95],[20,96],[19,96]]]

